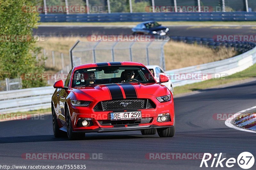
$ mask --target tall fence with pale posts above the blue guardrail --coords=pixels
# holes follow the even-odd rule
[[[168,6],[173,12],[184,12],[183,7],[208,7],[211,11],[256,11],[255,0],[44,0],[39,1],[38,6],[42,13],[115,13],[115,12],[146,12],[152,6]],[[56,9],[54,9],[56,7]],[[68,7],[61,8],[60,7]],[[79,7],[79,8],[75,8]],[[81,8],[83,7],[83,8]],[[155,8],[154,8],[155,9]],[[59,10],[59,11],[58,11]],[[157,10],[152,10],[157,12]]]

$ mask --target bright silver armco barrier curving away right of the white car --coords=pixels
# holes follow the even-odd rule
[[[166,73],[168,75],[174,75],[176,73],[180,74],[188,74],[188,73],[206,73],[211,75],[211,77],[215,77],[216,74],[223,75],[231,75],[236,72],[245,70],[256,63],[256,47],[252,50],[249,50],[241,55],[237,55],[232,58],[200,64],[196,66],[185,67],[181,69],[168,70]],[[175,77],[175,76],[173,76]],[[181,85],[188,85],[192,83],[201,82],[203,80],[195,80],[195,79],[172,79],[172,83],[174,87]]]

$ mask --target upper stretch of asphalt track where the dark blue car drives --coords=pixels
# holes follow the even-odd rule
[[[167,26],[170,35],[211,38],[215,35],[255,35],[253,26]],[[35,35],[87,36],[92,34],[131,34],[132,26],[39,26]]]

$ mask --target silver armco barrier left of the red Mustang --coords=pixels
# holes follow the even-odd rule
[[[0,92],[0,114],[51,107],[52,86]]]

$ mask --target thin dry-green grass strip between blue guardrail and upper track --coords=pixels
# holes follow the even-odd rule
[[[140,22],[40,22],[39,25],[137,25]],[[256,25],[256,21],[159,21],[163,25]]]

